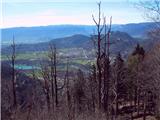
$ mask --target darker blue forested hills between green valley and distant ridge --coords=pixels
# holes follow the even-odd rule
[[[111,33],[111,51],[113,53],[117,52],[128,52],[134,46],[141,41],[140,39],[136,39],[128,35],[124,32],[112,32]],[[34,52],[34,51],[46,51],[48,50],[49,44],[54,43],[56,47],[59,49],[65,48],[84,48],[84,49],[92,49],[94,47],[93,41],[91,37],[76,34],[69,37],[57,38],[50,40],[49,42],[41,42],[36,44],[19,44],[16,47],[16,51],[20,53],[25,52]],[[2,54],[10,53],[11,48],[5,47],[2,48]]]

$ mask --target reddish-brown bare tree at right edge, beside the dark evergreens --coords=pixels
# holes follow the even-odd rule
[[[160,44],[149,52],[146,56],[144,64],[147,65],[145,71],[146,87],[152,90],[152,94],[156,95],[154,101],[156,103],[156,115],[160,116]]]

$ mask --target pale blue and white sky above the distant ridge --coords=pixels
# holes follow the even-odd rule
[[[146,22],[139,0],[101,0],[102,15],[113,24]],[[1,28],[60,24],[93,25],[97,17],[96,0],[2,0]]]

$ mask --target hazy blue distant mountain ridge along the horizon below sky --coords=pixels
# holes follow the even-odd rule
[[[112,25],[112,31],[126,32],[132,37],[144,37],[145,33],[155,27],[153,22]],[[16,27],[1,29],[2,45],[9,44],[13,35],[17,43],[47,42],[75,34],[90,36],[95,31],[93,25],[50,25],[39,27]]]

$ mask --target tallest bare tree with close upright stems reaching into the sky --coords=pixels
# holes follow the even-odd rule
[[[101,17],[101,2],[98,3],[98,20],[92,15],[93,21],[96,24],[97,34],[93,36],[94,44],[96,48],[96,70],[97,70],[97,81],[98,81],[98,105],[99,109],[102,108],[107,111],[109,115],[109,47],[110,47],[110,32],[112,18],[110,19],[110,26],[108,32],[106,31],[106,18]],[[102,21],[103,20],[103,21]],[[104,32],[104,33],[103,33]],[[103,85],[102,85],[103,83]],[[103,88],[103,89],[102,89]],[[103,102],[102,102],[103,95]]]

